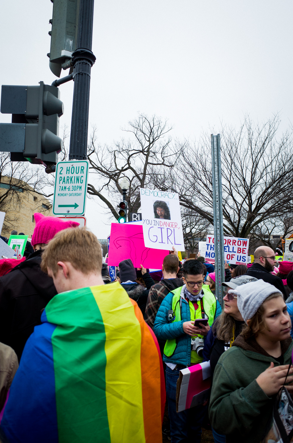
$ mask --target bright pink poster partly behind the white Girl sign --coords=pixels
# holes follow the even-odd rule
[[[118,266],[120,261],[130,258],[134,268],[161,269],[169,251],[146,248],[142,225],[112,223],[110,233],[108,266]]]

